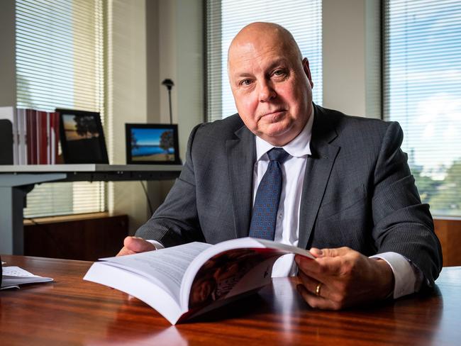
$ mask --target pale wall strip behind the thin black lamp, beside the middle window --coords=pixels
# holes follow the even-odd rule
[[[173,122],[179,128],[179,153],[184,161],[187,138],[204,121],[203,8],[201,0],[159,1],[160,81],[170,78]],[[170,121],[167,88],[160,88],[160,120]]]

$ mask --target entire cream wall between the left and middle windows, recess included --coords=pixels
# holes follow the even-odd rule
[[[203,15],[201,0],[112,0],[108,55],[108,109],[113,115],[108,143],[111,163],[125,163],[125,128],[131,123],[169,123],[165,78],[174,81],[173,122],[178,123],[179,154],[204,118]],[[130,216],[133,233],[150,217],[139,182],[111,183],[109,208]],[[172,182],[149,182],[152,208],[165,198]]]

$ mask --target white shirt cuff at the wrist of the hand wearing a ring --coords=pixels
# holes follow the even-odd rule
[[[370,258],[380,258],[389,264],[394,273],[394,299],[413,294],[421,286],[421,270],[413,266],[409,259],[396,252],[384,252],[382,254],[370,256]],[[419,282],[418,282],[419,281]]]

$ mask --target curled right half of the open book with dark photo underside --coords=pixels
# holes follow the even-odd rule
[[[289,253],[313,258],[305,249],[255,238],[227,240],[209,247],[194,259],[184,276],[182,309],[200,308],[212,301],[264,286],[270,282],[275,260]],[[262,262],[269,263],[269,267],[257,265]],[[257,279],[246,276],[250,271]],[[237,285],[238,289],[233,290]]]

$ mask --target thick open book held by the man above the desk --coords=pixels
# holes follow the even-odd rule
[[[269,284],[272,265],[289,253],[313,258],[299,247],[255,238],[191,242],[101,259],[84,280],[135,296],[176,324]]]

